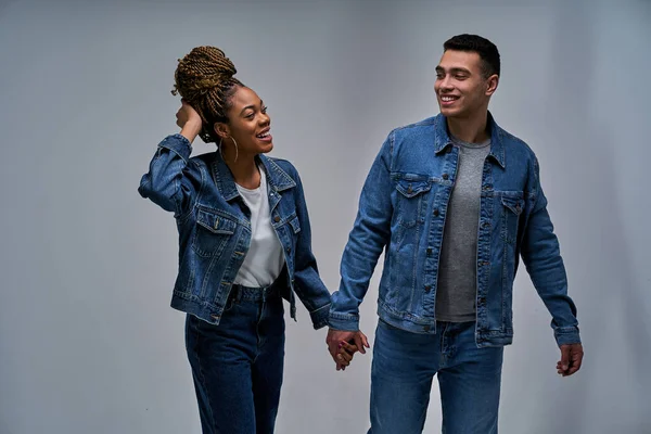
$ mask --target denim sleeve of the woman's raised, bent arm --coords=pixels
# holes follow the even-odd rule
[[[149,171],[142,176],[138,192],[163,209],[182,216],[192,208],[201,189],[201,170],[190,174],[192,146],[181,135],[166,137],[150,162]],[[199,174],[199,175],[196,175]]]

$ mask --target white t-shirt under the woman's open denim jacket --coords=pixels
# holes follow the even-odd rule
[[[282,244],[273,227],[267,196],[267,175],[260,171],[260,187],[248,190],[235,183],[240,195],[251,210],[251,246],[238,271],[234,283],[243,286],[263,288],[276,281],[284,266]]]

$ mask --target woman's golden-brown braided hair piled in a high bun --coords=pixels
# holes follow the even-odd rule
[[[196,47],[183,59],[174,73],[173,94],[180,94],[201,116],[203,128],[199,135],[206,142],[217,142],[215,123],[228,123],[230,98],[244,85],[233,78],[238,71],[224,51],[216,47]]]

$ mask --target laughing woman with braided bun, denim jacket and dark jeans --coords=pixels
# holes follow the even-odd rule
[[[298,173],[272,150],[267,106],[214,47],[179,61],[177,125],[139,192],[174,212],[179,271],[171,306],[187,312],[186,345],[204,433],[272,433],[284,357],[282,298],[294,294],[315,329],[330,293],[311,253]],[[200,136],[217,151],[190,157]],[[342,350],[339,363],[352,355]],[[339,368],[339,365],[337,365]]]

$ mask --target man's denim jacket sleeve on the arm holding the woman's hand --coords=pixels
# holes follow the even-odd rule
[[[392,148],[393,133],[384,141],[361,190],[357,217],[342,255],[340,288],[332,295],[330,327],[335,330],[359,330],[359,305],[391,239]]]

